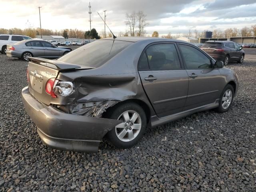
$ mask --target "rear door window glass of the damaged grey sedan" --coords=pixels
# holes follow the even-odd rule
[[[147,48],[150,70],[180,69],[180,60],[174,44],[155,44]]]

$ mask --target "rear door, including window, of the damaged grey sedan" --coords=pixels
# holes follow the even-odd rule
[[[175,43],[156,43],[140,57],[143,88],[158,117],[181,112],[188,92],[188,74],[180,63]]]

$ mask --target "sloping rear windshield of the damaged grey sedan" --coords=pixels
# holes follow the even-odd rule
[[[132,42],[118,40],[97,40],[88,43],[58,60],[82,66],[100,67]]]

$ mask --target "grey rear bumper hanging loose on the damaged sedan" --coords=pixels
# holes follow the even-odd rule
[[[81,152],[97,152],[104,135],[121,121],[72,115],[38,102],[22,89],[22,100],[30,118],[37,126],[41,140],[49,147]]]

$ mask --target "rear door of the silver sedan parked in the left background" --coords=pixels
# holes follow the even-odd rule
[[[44,48],[41,41],[29,41],[25,45],[26,51],[31,52],[34,57],[44,57]]]

